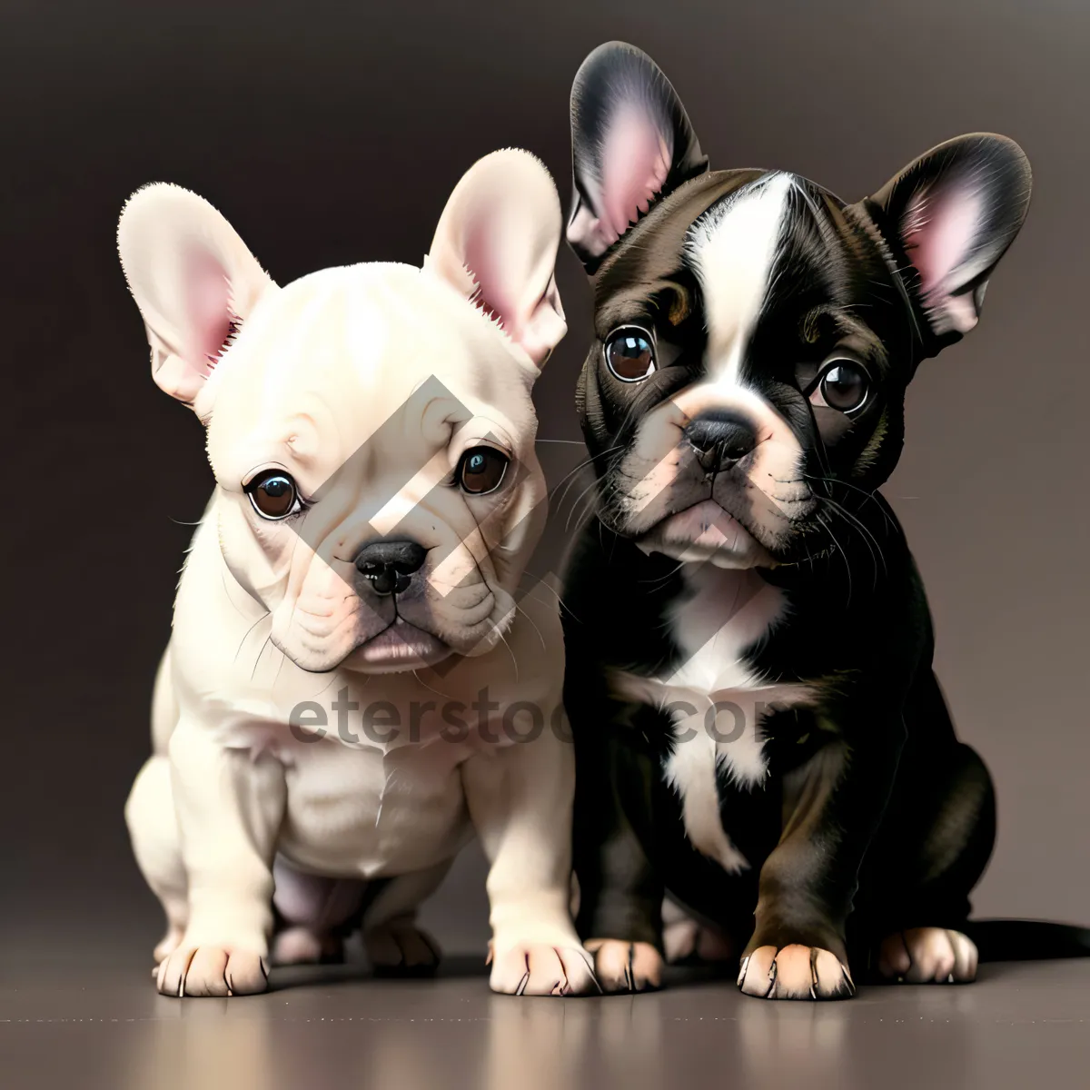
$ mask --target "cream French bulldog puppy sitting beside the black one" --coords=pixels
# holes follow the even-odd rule
[[[168,920],[161,993],[261,992],[270,960],[336,955],[352,925],[377,967],[426,969],[416,906],[474,828],[493,989],[595,986],[568,911],[556,598],[514,601],[545,513],[531,389],[566,328],[560,230],[517,150],[461,180],[423,268],[280,288],[201,197],[125,206],[153,374],[216,477],[125,811]]]

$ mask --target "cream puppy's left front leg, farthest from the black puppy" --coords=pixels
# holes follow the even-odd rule
[[[189,880],[189,923],[159,966],[164,995],[265,991],[272,930],[272,857],[283,819],[283,766],[225,749],[182,719],[170,739],[171,782]]]

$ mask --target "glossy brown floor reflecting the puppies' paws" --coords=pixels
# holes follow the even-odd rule
[[[438,979],[274,973],[235,1000],[162,998],[131,954],[0,968],[10,1090],[391,1090],[1086,1086],[1090,961],[995,965],[968,986],[864,988],[765,1003],[675,974],[657,994],[492,995],[479,965]],[[25,966],[25,967],[24,967]],[[8,969],[11,969],[9,964]]]

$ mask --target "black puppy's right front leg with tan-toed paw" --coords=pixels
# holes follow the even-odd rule
[[[785,777],[784,832],[761,869],[755,927],[738,977],[747,995],[855,994],[845,925],[904,741],[899,714],[837,729]]]

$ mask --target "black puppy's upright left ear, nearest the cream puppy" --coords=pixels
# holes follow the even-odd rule
[[[598,46],[576,74],[571,158],[568,242],[588,272],[653,201],[707,170],[669,80],[623,41]]]

